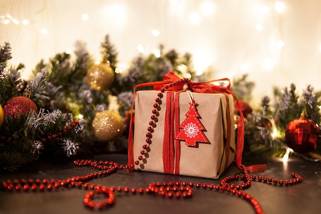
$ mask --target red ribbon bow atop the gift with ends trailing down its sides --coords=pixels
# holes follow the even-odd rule
[[[151,82],[151,83],[143,83],[138,84],[133,91],[133,101],[132,101],[132,111],[134,108],[134,101],[135,101],[135,92],[137,88],[141,87],[147,87],[147,86],[153,86],[155,90],[160,90],[165,85],[168,85],[170,83],[176,82],[180,80],[180,77],[178,77],[175,73],[169,72],[168,74],[164,75],[164,81],[157,81],[157,82]],[[229,84],[227,87],[223,86],[217,86],[210,84],[212,82],[218,82],[218,81],[227,81]],[[170,91],[181,91],[183,90],[182,85],[175,85],[168,90]],[[235,164],[239,169],[242,169],[242,153],[243,153],[243,147],[244,147],[244,116],[242,112],[242,107],[239,104],[236,96],[233,94],[233,92],[230,90],[230,80],[228,78],[224,79],[218,79],[218,80],[212,80],[212,81],[206,81],[206,82],[188,82],[188,90],[191,90],[193,92],[198,93],[227,93],[231,94],[233,98],[236,100],[236,106],[239,109],[240,117],[237,124],[237,144],[236,144],[236,153],[235,153]],[[128,137],[128,165],[134,164],[134,157],[133,157],[133,128],[132,128],[132,114],[130,117],[130,129],[129,129],[129,137]],[[266,168],[265,164],[262,165],[253,165],[248,167],[249,171],[259,171]]]

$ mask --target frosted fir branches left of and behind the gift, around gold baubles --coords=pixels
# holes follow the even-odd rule
[[[17,169],[39,157],[62,158],[76,153],[125,151],[126,131],[112,142],[95,137],[92,121],[96,113],[110,109],[118,111],[127,126],[135,85],[162,81],[163,75],[169,71],[190,79],[195,76],[191,54],[180,56],[175,50],[165,53],[162,45],[159,48],[159,57],[155,54],[139,55],[128,72],[118,72],[116,48],[106,35],[101,43],[101,62],[109,64],[115,71],[115,80],[107,90],[93,90],[86,75],[94,63],[84,43],[76,42],[75,57],[63,52],[50,57],[48,62],[41,60],[30,80],[21,79],[19,70],[23,64],[14,69],[6,67],[7,60],[11,59],[11,47],[6,43],[0,50],[1,105],[5,106],[14,96],[26,96],[36,104],[38,112],[19,115],[16,120],[5,117],[0,128],[0,168]],[[79,115],[83,119],[79,119]],[[75,119],[79,119],[76,125],[73,123]]]

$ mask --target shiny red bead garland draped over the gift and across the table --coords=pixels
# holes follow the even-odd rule
[[[166,89],[173,87],[175,85],[184,84],[186,82],[189,82],[189,79],[181,79],[179,81],[175,81],[173,83],[170,83],[168,85],[165,85],[164,88],[160,89],[160,92],[157,94],[158,98],[155,99],[154,109],[152,110],[152,121],[149,122],[149,127],[147,128],[148,132],[146,134],[146,144],[143,145],[143,150],[141,151],[141,154],[145,154],[145,150],[148,148],[149,143],[151,142],[152,134],[151,131],[153,129],[152,125],[156,122],[156,113],[157,113],[157,107],[160,102],[160,99],[163,98],[163,93]],[[139,164],[139,161],[143,160],[143,156],[139,155],[138,160],[134,162],[135,165]],[[127,171],[133,171],[134,170],[134,164],[130,165],[118,165],[115,162],[109,162],[109,161],[91,161],[91,160],[75,160],[74,165],[83,167],[83,166],[90,166],[94,167],[95,169],[98,169],[97,172],[87,174],[85,176],[78,176],[78,177],[72,177],[68,178],[66,180],[39,180],[39,179],[29,179],[29,180],[6,180],[1,183],[1,188],[4,191],[50,191],[51,189],[58,189],[62,187],[73,187],[73,188],[84,188],[88,189],[89,191],[85,194],[83,203],[89,207],[89,208],[97,208],[97,209],[103,209],[104,207],[110,206],[114,204],[115,201],[115,192],[125,192],[125,193],[148,193],[153,194],[161,197],[167,197],[167,198],[190,198],[194,194],[193,188],[204,188],[204,189],[210,189],[210,190],[216,190],[216,191],[227,191],[231,194],[246,199],[251,205],[253,206],[254,210],[258,214],[263,214],[264,211],[261,209],[259,203],[256,201],[256,199],[251,196],[250,194],[246,193],[244,189],[247,189],[251,186],[252,181],[258,181],[262,183],[272,183],[274,185],[294,185],[299,182],[303,181],[303,178],[299,176],[296,173],[292,173],[291,176],[293,179],[290,180],[277,180],[262,176],[250,176],[249,170],[246,166],[241,165],[241,170],[243,171],[242,174],[236,174],[235,176],[228,176],[220,181],[219,184],[207,184],[207,183],[193,183],[193,182],[156,182],[156,183],[150,183],[147,187],[141,187],[141,188],[129,188],[129,187],[107,187],[102,185],[95,185],[94,183],[89,183],[89,181],[98,178],[98,177],[104,177],[109,176],[110,174],[116,172],[118,169],[125,169]],[[242,184],[229,184],[232,181],[239,181],[242,180]],[[104,193],[107,194],[107,198],[100,201],[100,202],[94,202],[93,196],[94,194],[100,194]]]

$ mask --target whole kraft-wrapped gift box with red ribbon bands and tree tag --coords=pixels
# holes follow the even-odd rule
[[[161,102],[155,106],[158,95],[158,90],[136,93],[133,142],[129,145],[132,146],[129,149],[130,159],[141,157],[135,169],[217,179],[235,157],[233,96],[227,93],[165,91]],[[187,114],[192,98],[197,103],[196,118]],[[151,115],[156,119],[151,120]],[[193,123],[189,122],[189,117],[194,118]],[[177,135],[183,129],[180,125],[184,121],[192,132],[187,129],[184,137],[180,136],[181,140],[175,140],[179,139]],[[188,140],[196,135],[193,128],[204,140]]]

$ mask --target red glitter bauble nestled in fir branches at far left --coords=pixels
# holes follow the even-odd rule
[[[15,96],[6,103],[4,114],[17,119],[19,114],[28,115],[30,110],[37,112],[37,106],[32,100],[25,96]]]

